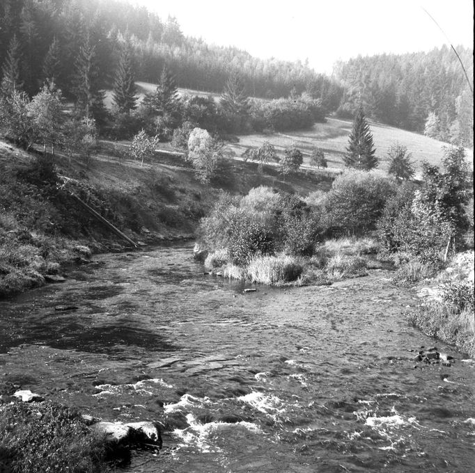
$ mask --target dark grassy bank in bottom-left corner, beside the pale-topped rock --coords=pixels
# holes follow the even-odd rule
[[[103,439],[91,433],[79,412],[56,403],[1,405],[0,432],[2,472],[111,471]]]

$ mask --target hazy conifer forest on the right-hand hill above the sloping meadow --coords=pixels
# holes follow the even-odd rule
[[[457,47],[469,77],[473,50]],[[335,67],[345,91],[338,115],[359,104],[369,118],[456,145],[473,146],[474,96],[453,50],[358,56]]]

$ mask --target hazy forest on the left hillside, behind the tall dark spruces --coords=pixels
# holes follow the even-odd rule
[[[4,0],[0,6],[0,64],[15,38],[20,72],[29,95],[38,93],[54,69],[56,84],[74,96],[77,56],[93,50],[98,88],[110,88],[124,38],[130,40],[137,80],[155,83],[164,65],[178,86],[221,92],[239,73],[247,95],[287,97],[305,90],[336,109],[341,87],[301,62],[262,60],[235,47],[207,45],[186,37],[176,19],[165,22],[146,8],[119,0]],[[86,49],[86,51],[84,51]]]

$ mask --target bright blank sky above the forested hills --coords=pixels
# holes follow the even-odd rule
[[[253,56],[309,60],[317,72],[335,61],[428,51],[449,41],[473,47],[472,0],[129,0],[162,20],[176,17],[185,35],[236,46]]]

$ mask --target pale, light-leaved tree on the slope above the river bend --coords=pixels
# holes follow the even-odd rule
[[[222,157],[222,147],[213,140],[208,131],[201,128],[193,129],[188,138],[187,161],[192,161],[201,182],[210,182]]]

